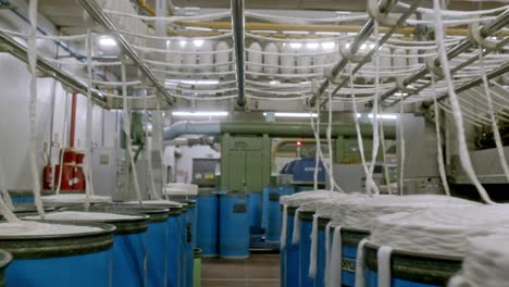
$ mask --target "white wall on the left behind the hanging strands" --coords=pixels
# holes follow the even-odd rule
[[[23,8],[23,1],[14,1]],[[55,28],[40,17],[40,27],[54,34]],[[26,33],[27,25],[9,10],[0,11],[0,27]],[[54,57],[55,45],[50,40],[37,40],[37,51],[46,57]],[[64,52],[62,52],[64,54]],[[32,176],[28,165],[29,151],[29,79],[27,65],[9,53],[0,53],[0,164],[4,171],[7,188],[10,190],[32,189]],[[54,101],[54,104],[53,104]],[[53,110],[54,107],[54,110]],[[52,146],[53,164],[60,148],[69,145],[71,96],[52,78],[37,79],[36,134],[39,176],[49,147]],[[86,98],[78,96],[76,114],[76,147],[85,148]],[[53,116],[52,116],[53,115]],[[52,132],[51,132],[52,129]],[[114,147],[115,112],[104,112],[94,108],[92,141],[95,146]],[[44,151],[44,147],[48,147]]]

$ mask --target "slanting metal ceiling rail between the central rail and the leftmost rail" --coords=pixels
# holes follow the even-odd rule
[[[150,71],[150,67],[141,61],[136,50],[133,49],[127,39],[125,39],[125,37],[122,35],[119,28],[116,28],[110,17],[102,11],[101,7],[99,7],[96,0],[77,1],[99,25],[103,26],[112,33],[112,35],[116,38],[116,42],[119,43],[123,53],[138,66],[141,74],[147,77],[150,83],[152,83],[153,87],[160,95],[165,98],[166,102],[170,105],[173,105],[174,98],[170,95],[170,92],[167,92],[164,84],[161,84],[161,82],[159,82],[156,75]]]

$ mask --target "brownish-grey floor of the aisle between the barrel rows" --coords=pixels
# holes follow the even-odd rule
[[[203,259],[201,287],[278,287],[280,254],[251,253],[248,259]]]

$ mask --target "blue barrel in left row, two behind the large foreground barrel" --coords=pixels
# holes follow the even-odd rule
[[[167,278],[167,208],[139,208],[133,204],[91,207],[90,211],[136,212],[149,215],[147,229],[147,286],[165,286]]]

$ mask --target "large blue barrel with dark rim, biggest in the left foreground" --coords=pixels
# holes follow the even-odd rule
[[[0,248],[9,251],[14,258],[5,270],[5,286],[111,286],[115,227],[101,223],[72,225],[97,227],[99,230],[62,235],[0,236]]]

